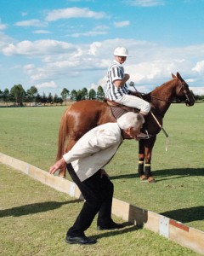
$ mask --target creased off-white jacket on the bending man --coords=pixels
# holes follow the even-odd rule
[[[99,125],[83,135],[63,158],[84,181],[111,160],[122,141],[117,123]]]

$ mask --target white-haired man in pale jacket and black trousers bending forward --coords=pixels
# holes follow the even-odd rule
[[[97,229],[122,228],[111,218],[113,183],[102,169],[116,154],[123,139],[136,139],[144,124],[139,113],[124,113],[116,123],[99,125],[83,135],[71,150],[64,154],[49,172],[54,174],[67,165],[72,180],[77,184],[85,199],[76,222],[67,231],[65,241],[70,244],[94,244],[96,240],[87,237],[84,231],[98,214]]]

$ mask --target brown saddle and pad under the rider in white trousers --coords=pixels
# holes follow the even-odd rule
[[[122,114],[127,112],[139,113],[139,109],[137,108],[130,108],[109,99],[105,99],[105,102],[111,107],[111,113],[115,119],[118,119]]]

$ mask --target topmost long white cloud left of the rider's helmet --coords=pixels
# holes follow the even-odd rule
[[[54,21],[60,19],[71,19],[71,18],[94,18],[101,19],[105,17],[103,12],[94,12],[88,8],[67,8],[67,9],[54,9],[50,11],[45,20]]]

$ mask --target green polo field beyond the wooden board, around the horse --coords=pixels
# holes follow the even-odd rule
[[[114,197],[204,230],[204,104],[173,104],[164,119],[169,135],[158,135],[152,171],[156,183],[137,174],[138,143],[126,141],[106,167]],[[48,171],[57,150],[59,122],[65,107],[0,108],[0,152]],[[68,177],[69,178],[69,177]]]

